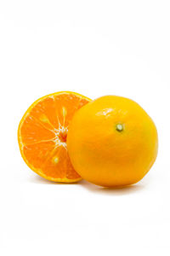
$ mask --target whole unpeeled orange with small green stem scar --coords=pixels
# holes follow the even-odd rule
[[[138,103],[102,96],[75,113],[67,148],[82,178],[104,187],[130,185],[156,160],[156,125]]]

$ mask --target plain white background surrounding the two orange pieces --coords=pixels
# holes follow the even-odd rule
[[[170,255],[170,2],[0,1],[0,254]],[[59,90],[127,96],[154,119],[159,154],[126,189],[50,183],[17,143],[32,102]]]

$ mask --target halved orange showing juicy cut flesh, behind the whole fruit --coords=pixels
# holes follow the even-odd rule
[[[26,164],[42,177],[71,183],[81,179],[71,165],[66,136],[73,114],[90,101],[61,91],[34,102],[20,121],[18,142]]]

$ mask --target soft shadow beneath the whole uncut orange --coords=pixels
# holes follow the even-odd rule
[[[144,183],[137,183],[126,187],[117,187],[117,188],[103,188],[92,183],[88,183],[85,180],[82,180],[79,184],[82,185],[83,188],[97,194],[103,195],[126,195],[138,192],[144,189]]]

